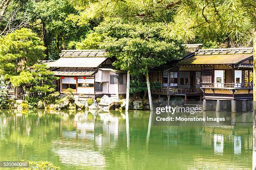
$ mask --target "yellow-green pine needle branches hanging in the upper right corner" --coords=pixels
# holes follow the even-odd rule
[[[174,20],[161,33],[182,41],[212,40],[227,46],[250,46],[254,5],[251,0],[182,1],[176,6]]]

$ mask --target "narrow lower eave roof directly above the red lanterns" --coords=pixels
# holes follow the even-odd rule
[[[55,70],[54,75],[59,76],[89,76],[97,70]]]

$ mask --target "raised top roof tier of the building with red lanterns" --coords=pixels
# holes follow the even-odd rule
[[[105,57],[107,50],[62,50],[59,57]]]

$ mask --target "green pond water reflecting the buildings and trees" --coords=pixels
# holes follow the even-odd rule
[[[251,169],[251,127],[150,120],[148,111],[0,110],[0,161],[48,160],[61,170]]]

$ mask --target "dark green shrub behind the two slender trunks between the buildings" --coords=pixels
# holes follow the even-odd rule
[[[163,87],[161,82],[150,82],[150,89],[160,89]],[[130,93],[136,93],[136,92],[145,92],[147,89],[147,83],[138,81],[138,80],[131,80],[130,82]]]

